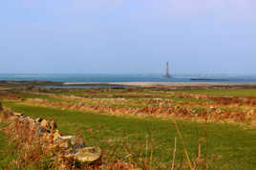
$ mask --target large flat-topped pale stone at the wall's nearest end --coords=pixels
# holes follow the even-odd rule
[[[101,151],[98,147],[85,147],[78,150],[75,158],[81,162],[91,163],[101,158]]]

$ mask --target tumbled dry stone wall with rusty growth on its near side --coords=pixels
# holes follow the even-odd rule
[[[5,131],[12,138],[23,138],[23,140],[24,138],[38,138],[40,141],[43,141],[41,145],[43,145],[45,150],[61,150],[59,152],[61,154],[56,156],[59,162],[67,162],[67,160],[72,159],[72,162],[75,161],[78,167],[81,164],[101,164],[101,151],[98,147],[86,145],[83,138],[62,136],[56,129],[57,126],[53,120],[46,120],[40,117],[33,119],[32,117],[25,117],[21,113],[11,112],[10,110],[2,111],[1,120],[10,122],[10,125]],[[64,164],[69,169],[70,165],[63,163],[63,166]],[[65,169],[65,167],[63,168]]]

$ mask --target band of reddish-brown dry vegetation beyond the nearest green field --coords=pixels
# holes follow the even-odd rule
[[[176,117],[176,118],[205,118],[210,121],[235,121],[240,123],[252,123],[256,120],[254,114],[255,98],[231,98],[213,96],[190,96],[184,94],[180,97],[197,99],[210,99],[210,102],[174,102],[171,99],[126,99],[126,98],[80,98],[62,96],[74,102],[56,102],[40,98],[29,98],[27,104],[35,104],[46,107],[59,107],[64,109],[75,109],[80,111],[96,111],[116,115],[138,115],[140,117]],[[113,106],[113,105],[116,106]],[[118,106],[119,105],[119,106]],[[136,107],[142,106],[142,107]],[[235,111],[228,108],[236,108]]]

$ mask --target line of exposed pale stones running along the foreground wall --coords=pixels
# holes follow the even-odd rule
[[[77,138],[75,136],[62,137],[58,130],[53,130],[56,128],[56,123],[53,120],[48,121],[40,117],[33,119],[32,117],[25,117],[21,113],[12,113],[9,110],[5,110],[3,115],[8,120],[12,118],[15,121],[21,122],[23,126],[26,125],[27,127],[29,125],[32,130],[37,131],[36,138],[42,138],[43,141],[48,143],[45,147],[64,149],[65,158],[72,157],[81,164],[88,163],[95,165],[96,163],[101,163],[101,150],[98,147],[86,146],[83,138]],[[14,126],[15,123],[12,123],[12,125]]]

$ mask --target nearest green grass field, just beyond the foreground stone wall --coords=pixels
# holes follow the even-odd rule
[[[32,107],[15,102],[5,106],[29,117],[53,119],[64,135],[83,136],[87,144],[103,149],[107,159],[148,158],[155,167],[170,167],[174,138],[178,138],[177,161],[185,161],[181,139],[171,120],[148,117],[114,117],[100,113],[63,111]],[[203,138],[203,123],[178,121],[190,158],[196,157],[198,138]],[[198,135],[197,135],[198,127]],[[198,136],[198,137],[197,137]],[[207,123],[207,159],[209,169],[253,169],[256,167],[256,130],[239,125]],[[202,144],[202,154],[205,144]],[[146,149],[148,148],[148,149]],[[164,168],[163,168],[164,169]]]

